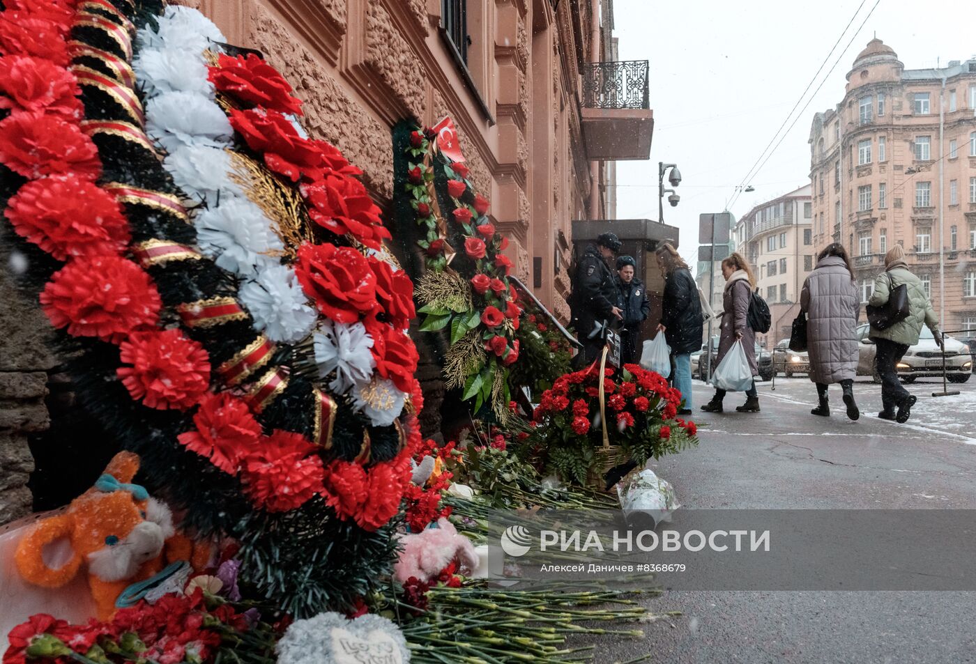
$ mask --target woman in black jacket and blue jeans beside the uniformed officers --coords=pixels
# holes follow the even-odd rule
[[[690,415],[691,403],[691,354],[702,347],[702,300],[698,286],[687,263],[664,243],[654,253],[661,273],[665,275],[665,293],[661,302],[661,323],[658,332],[664,332],[671,347],[674,363],[674,389],[681,393],[684,405],[680,415]]]

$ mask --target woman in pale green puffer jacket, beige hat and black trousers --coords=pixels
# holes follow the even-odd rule
[[[877,347],[874,367],[881,376],[881,407],[877,413],[881,419],[893,419],[899,423],[908,421],[917,399],[902,387],[896,366],[908,351],[918,343],[918,333],[924,323],[932,331],[935,342],[942,347],[939,319],[935,317],[932,302],[925,293],[921,280],[909,271],[905,262],[905,250],[895,245],[884,255],[884,272],[874,279],[874,294],[868,300],[872,306],[883,306],[888,296],[901,285],[908,288],[909,315],[887,330],[871,328],[870,336]],[[897,410],[895,410],[897,409]]]

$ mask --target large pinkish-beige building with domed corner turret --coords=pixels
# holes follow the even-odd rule
[[[976,331],[976,58],[906,69],[873,39],[809,142],[816,250],[842,242],[867,301],[902,245],[942,328]]]

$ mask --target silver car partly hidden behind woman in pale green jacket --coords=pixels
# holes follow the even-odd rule
[[[874,382],[880,382],[880,376],[874,371],[874,355],[876,346],[868,334],[871,327],[867,324],[857,329],[858,336],[858,375],[874,376]],[[946,375],[950,382],[964,383],[972,375],[973,361],[969,353],[969,346],[952,336],[945,337],[946,344]],[[915,378],[942,377],[942,349],[939,348],[928,328],[922,328],[918,336],[918,343],[909,346],[902,361],[896,365],[898,377],[902,382],[915,382]]]

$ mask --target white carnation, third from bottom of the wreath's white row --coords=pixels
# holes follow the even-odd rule
[[[241,286],[241,302],[254,317],[254,328],[272,341],[294,343],[305,338],[315,325],[315,310],[295,272],[284,265],[268,265],[257,279]]]

